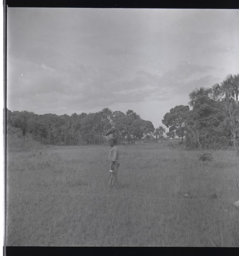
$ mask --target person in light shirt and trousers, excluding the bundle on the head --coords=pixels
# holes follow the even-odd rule
[[[118,167],[120,166],[120,161],[119,161],[119,152],[118,152],[118,147],[116,146],[117,141],[112,140],[110,142],[110,146],[112,149],[110,150],[109,153],[109,161],[110,161],[110,180],[109,180],[109,187],[110,188],[116,188],[119,189],[119,183],[118,183]]]

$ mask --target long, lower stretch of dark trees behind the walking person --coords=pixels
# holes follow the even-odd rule
[[[42,144],[85,145],[106,144],[106,132],[118,130],[118,143],[134,144],[143,137],[151,138],[155,128],[133,110],[126,113],[103,108],[96,113],[71,115],[43,114],[7,109],[7,135],[31,135]]]

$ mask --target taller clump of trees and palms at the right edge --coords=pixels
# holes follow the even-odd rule
[[[185,137],[190,149],[224,149],[239,143],[239,74],[228,74],[212,88],[200,87],[190,94],[188,105],[170,109],[163,117],[166,135]],[[190,110],[189,106],[192,107]]]

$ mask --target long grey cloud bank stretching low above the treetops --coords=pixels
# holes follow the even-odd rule
[[[120,71],[104,67],[71,63],[56,69],[44,63],[33,65],[26,61],[22,65],[20,60],[14,63],[16,68],[11,69],[8,84],[10,104],[21,98],[21,102],[28,102],[34,108],[57,111],[74,109],[74,106],[91,109],[115,102],[168,101],[188,94],[199,85],[205,86],[212,80],[207,73],[213,69],[182,62],[162,76],[138,70],[129,79],[122,79]],[[20,64],[23,76],[19,76]]]

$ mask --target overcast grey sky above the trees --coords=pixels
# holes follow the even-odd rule
[[[7,9],[7,108],[133,109],[154,127],[239,73],[239,10]]]

